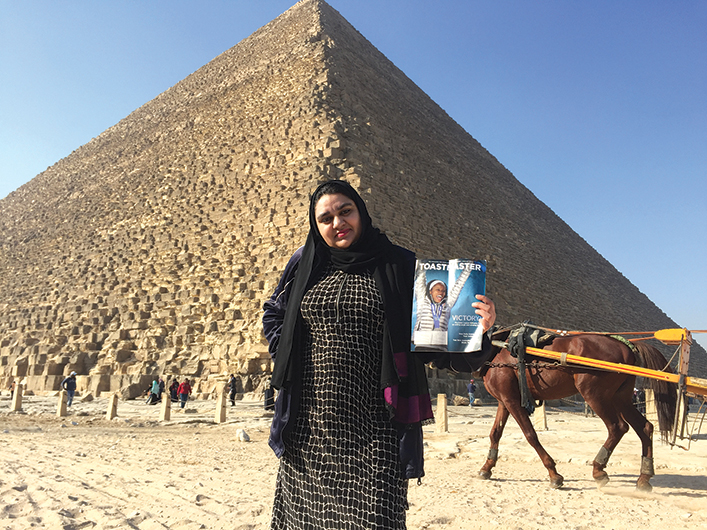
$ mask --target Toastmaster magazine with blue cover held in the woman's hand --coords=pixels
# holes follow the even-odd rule
[[[471,304],[486,294],[486,262],[417,260],[412,306],[412,350],[481,349],[483,328]]]

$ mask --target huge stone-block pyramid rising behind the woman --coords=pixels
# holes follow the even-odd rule
[[[0,201],[0,384],[52,390],[75,370],[79,390],[134,397],[157,374],[209,393],[234,372],[261,390],[262,303],[327,178],[419,256],[487,260],[502,324],[676,326],[338,12],[303,0]]]

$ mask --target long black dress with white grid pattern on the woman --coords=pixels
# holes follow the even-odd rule
[[[273,529],[404,529],[407,480],[383,401],[383,303],[372,275],[325,271],[300,306],[308,332]]]

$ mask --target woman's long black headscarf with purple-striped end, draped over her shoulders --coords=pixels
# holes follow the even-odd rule
[[[325,193],[341,193],[353,200],[358,208],[361,235],[348,248],[329,247],[319,233],[314,210],[325,186]],[[291,286],[275,357],[272,385],[276,388],[288,388],[300,379],[300,339],[303,330],[300,304],[304,294],[319,279],[330,262],[335,268],[347,273],[370,271],[373,274],[383,299],[386,319],[383,331],[381,388],[400,384],[400,392],[405,395],[428,393],[424,366],[419,360],[410,359],[414,254],[393,245],[381,234],[373,226],[360,195],[350,184],[340,180],[321,184],[310,199],[309,234]],[[399,362],[396,365],[396,358],[401,355],[405,358],[404,370],[400,370]],[[400,373],[401,371],[404,373]]]

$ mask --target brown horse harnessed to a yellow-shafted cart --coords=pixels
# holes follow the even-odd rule
[[[506,332],[507,335],[507,332]],[[494,339],[505,337],[494,336]],[[653,370],[663,370],[668,365],[665,357],[652,346],[637,343],[638,354],[624,343],[606,335],[581,334],[557,337],[545,349],[581,355],[612,363],[640,365]],[[538,441],[528,412],[521,406],[518,371],[514,368],[517,359],[506,349],[495,347],[498,353],[491,363],[481,371],[486,390],[498,400],[496,421],[491,429],[491,449],[486,463],[479,471],[484,479],[491,477],[491,470],[498,460],[498,442],[503,428],[512,415],[523,431],[528,443],[537,451],[540,460],[550,474],[553,488],[562,486],[563,478],[555,468],[555,461]],[[538,362],[532,365],[533,361]],[[641,439],[641,471],[636,488],[650,491],[653,472],[653,425],[633,405],[633,389],[636,377],[616,372],[553,365],[552,361],[526,355],[528,388],[536,400],[551,400],[581,394],[586,403],[599,416],[609,435],[594,458],[592,475],[603,486],[609,481],[604,468],[612,451],[630,425]],[[672,428],[676,407],[676,385],[649,379],[655,393],[659,429],[663,436]]]

